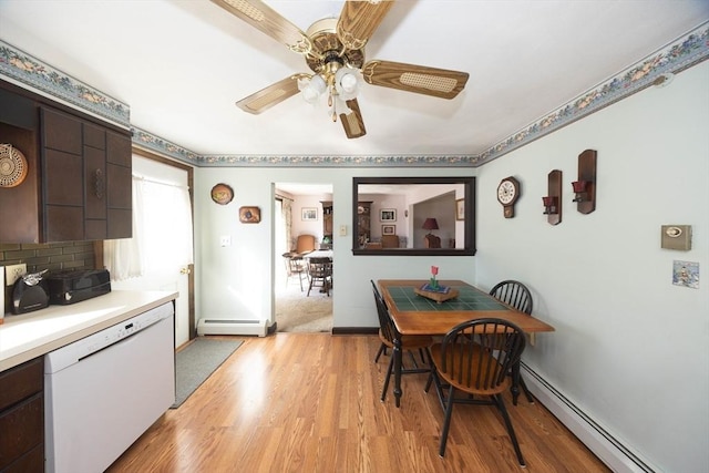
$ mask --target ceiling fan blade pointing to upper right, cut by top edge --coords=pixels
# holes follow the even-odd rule
[[[337,35],[350,50],[362,49],[382,22],[393,1],[348,0],[337,22]]]

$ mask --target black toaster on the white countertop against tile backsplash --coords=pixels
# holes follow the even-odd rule
[[[81,269],[51,273],[47,276],[49,304],[66,306],[111,292],[106,269]]]

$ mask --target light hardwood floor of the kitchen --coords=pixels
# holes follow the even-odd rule
[[[379,397],[389,357],[376,336],[277,333],[244,345],[167,411],[109,472],[520,471],[493,407],[455,405],[445,457],[443,412],[427,374]],[[530,473],[609,470],[541,404],[506,399]]]

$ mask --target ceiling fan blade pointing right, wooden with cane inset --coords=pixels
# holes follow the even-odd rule
[[[441,99],[453,99],[458,95],[465,86],[469,75],[467,72],[392,61],[373,60],[362,66],[362,76],[369,84]]]

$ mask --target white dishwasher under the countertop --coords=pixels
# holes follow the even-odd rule
[[[175,402],[166,302],[45,356],[45,471],[107,469]]]

